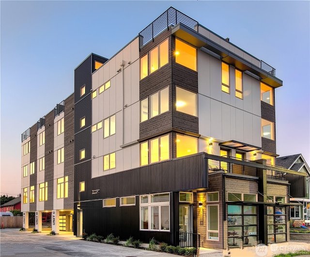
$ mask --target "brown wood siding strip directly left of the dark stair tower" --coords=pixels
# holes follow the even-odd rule
[[[74,201],[74,94],[64,100],[64,176],[68,176],[68,197],[64,209],[73,209]]]

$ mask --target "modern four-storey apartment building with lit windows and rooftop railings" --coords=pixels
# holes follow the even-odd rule
[[[221,249],[289,241],[290,181],[306,174],[275,166],[280,86],[274,68],[169,8],[109,60],[88,56],[62,116],[26,131],[22,166],[36,162],[36,175],[22,192],[35,186],[35,198],[47,182],[50,196],[22,204],[26,220],[47,210],[57,223],[67,210],[78,237]],[[42,151],[39,127],[52,140]]]

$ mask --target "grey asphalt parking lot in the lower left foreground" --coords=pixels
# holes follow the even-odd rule
[[[19,228],[0,229],[1,257],[175,257],[175,255],[78,240],[72,235],[47,236],[32,234]]]

